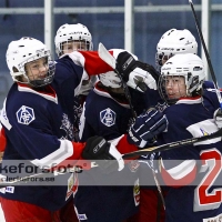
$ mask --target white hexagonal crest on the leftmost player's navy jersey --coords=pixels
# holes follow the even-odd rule
[[[21,124],[30,124],[34,120],[34,111],[32,108],[22,105],[18,111],[17,111],[17,120]]]

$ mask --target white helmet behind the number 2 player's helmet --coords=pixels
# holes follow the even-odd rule
[[[188,30],[170,29],[160,39],[157,46],[155,63],[160,71],[162,59],[170,59],[174,54],[198,53],[198,43],[193,34]]]

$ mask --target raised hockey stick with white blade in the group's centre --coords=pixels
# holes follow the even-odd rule
[[[117,60],[115,60],[115,58],[112,57],[112,54],[110,54],[110,52],[105,49],[105,47],[101,42],[99,43],[98,53],[99,53],[100,59],[102,59],[105,63],[108,63],[117,72],[118,77],[120,78],[120,80],[122,82],[124,94],[125,94],[125,97],[128,99],[128,102],[130,104],[130,109],[132,111],[132,117],[137,118],[137,113],[135,113],[135,111],[133,109],[133,105],[132,105],[132,100],[131,100],[131,95],[130,95],[130,91],[128,89],[128,85],[123,81],[122,75],[117,70]]]

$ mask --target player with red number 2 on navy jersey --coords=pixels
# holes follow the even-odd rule
[[[202,87],[204,80],[203,62],[193,53],[176,54],[162,67],[159,91],[170,107],[163,111],[169,125],[159,134],[159,144],[218,130],[212,118],[219,101],[214,99],[215,91]],[[210,104],[203,93],[212,98]],[[140,133],[133,131],[138,139]],[[161,152],[161,174],[170,186],[165,198],[167,222],[221,220],[221,148],[219,138]]]

